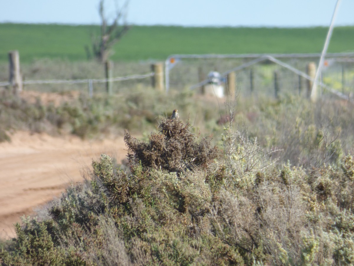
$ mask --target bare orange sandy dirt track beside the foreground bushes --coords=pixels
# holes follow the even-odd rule
[[[0,238],[15,236],[15,222],[60,196],[70,183],[82,181],[92,160],[105,153],[125,159],[122,137],[81,140],[75,136],[17,132],[0,143]]]

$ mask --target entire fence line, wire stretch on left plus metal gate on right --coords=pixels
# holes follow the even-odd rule
[[[308,94],[312,79],[307,73],[309,62],[318,62],[320,54],[247,54],[247,55],[173,55],[165,64],[166,89],[198,90],[207,83],[207,74],[218,71],[222,76],[230,71],[236,73],[236,90],[244,96],[275,96],[281,94]],[[173,59],[173,63],[171,63]],[[124,93],[132,88],[153,86],[149,77],[160,74],[147,72],[151,62],[116,62],[112,76],[104,77],[101,65],[93,62],[38,61],[21,65],[24,90],[38,92],[66,92],[80,90],[107,93],[107,83],[114,83],[112,93]],[[8,66],[0,65],[0,80],[7,79]],[[154,70],[152,70],[154,71]],[[130,74],[130,73],[144,74]],[[92,78],[86,78],[87,76]],[[155,77],[154,77],[155,76]],[[70,77],[70,78],[67,78]],[[85,77],[85,78],[82,78]],[[48,78],[48,79],[46,79]],[[57,79],[56,79],[57,78]],[[276,79],[276,80],[275,80]],[[354,53],[327,54],[319,81],[322,95],[330,92],[342,99],[354,94]],[[0,82],[0,86],[11,86]],[[227,86],[227,83],[224,84]]]

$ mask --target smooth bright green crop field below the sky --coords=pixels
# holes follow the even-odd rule
[[[22,62],[34,59],[86,60],[85,45],[99,26],[0,24],[0,62],[19,50]],[[133,26],[115,45],[114,61],[164,60],[171,54],[320,52],[327,28],[199,28]],[[328,52],[354,51],[354,26],[333,31]]]

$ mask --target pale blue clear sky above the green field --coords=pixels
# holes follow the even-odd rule
[[[117,0],[105,0],[107,17]],[[118,0],[121,6],[125,0]],[[99,0],[0,0],[0,23],[99,24]],[[337,0],[130,0],[127,23],[197,27],[329,26]],[[335,26],[354,25],[354,0],[341,0]]]

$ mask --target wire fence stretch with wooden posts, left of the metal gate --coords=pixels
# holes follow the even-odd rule
[[[93,60],[38,59],[21,63],[21,66],[16,62],[18,67],[14,67],[13,61],[0,63],[0,87],[11,89],[15,94],[21,91],[22,85],[24,92],[112,95],[140,88],[156,88],[154,82],[160,77],[153,68],[154,61],[111,62],[109,68]]]

